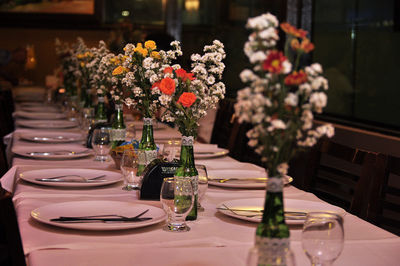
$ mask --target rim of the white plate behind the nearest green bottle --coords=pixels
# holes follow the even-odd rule
[[[242,198],[242,199],[226,200],[226,201],[218,203],[218,205],[216,207],[217,208],[217,212],[219,212],[219,213],[221,213],[223,215],[238,219],[238,220],[248,221],[248,222],[252,222],[252,223],[260,223],[261,222],[261,216],[260,216],[260,218],[254,218],[254,217],[250,218],[250,217],[246,217],[246,216],[235,215],[234,213],[232,213],[232,212],[230,212],[228,210],[218,209],[218,208],[223,208],[222,205],[226,205],[226,204],[228,204],[229,202],[232,202],[232,201],[246,201],[246,200],[260,200],[261,202],[263,202],[265,200],[265,198],[257,197],[257,198]],[[311,200],[303,200],[303,199],[284,199],[284,202],[285,201],[286,202],[287,201],[312,202],[312,203],[317,203],[317,204],[332,205],[332,204],[329,204],[327,202],[319,202],[319,201],[311,201]],[[338,212],[331,211],[332,213],[336,213],[336,214],[340,215],[341,217],[344,217],[346,215],[347,212],[343,208],[335,206],[335,205],[332,205],[332,206],[333,206],[333,208],[336,208],[338,210]],[[285,222],[288,225],[299,225],[299,224],[303,224],[304,220],[285,220]]]

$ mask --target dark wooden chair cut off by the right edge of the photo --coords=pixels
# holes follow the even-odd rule
[[[400,158],[378,156],[367,220],[400,236]]]

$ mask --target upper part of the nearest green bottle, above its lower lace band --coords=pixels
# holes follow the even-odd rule
[[[264,202],[264,213],[256,235],[268,238],[288,238],[289,227],[285,223],[283,203],[283,179],[269,178]]]

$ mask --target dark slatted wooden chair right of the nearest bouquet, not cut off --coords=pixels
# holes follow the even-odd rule
[[[365,219],[377,156],[323,139],[309,153],[302,187]]]

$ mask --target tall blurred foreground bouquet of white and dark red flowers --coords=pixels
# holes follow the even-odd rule
[[[328,89],[320,64],[300,65],[314,45],[306,31],[281,23],[286,42],[284,52],[278,51],[278,26],[269,13],[248,20],[252,33],[244,52],[254,67],[241,72],[247,86],[238,92],[235,105],[238,121],[254,125],[247,132],[248,145],[261,155],[270,176],[286,174],[298,151],[334,135],[329,124],[313,127],[313,112],[321,113],[326,106]]]

